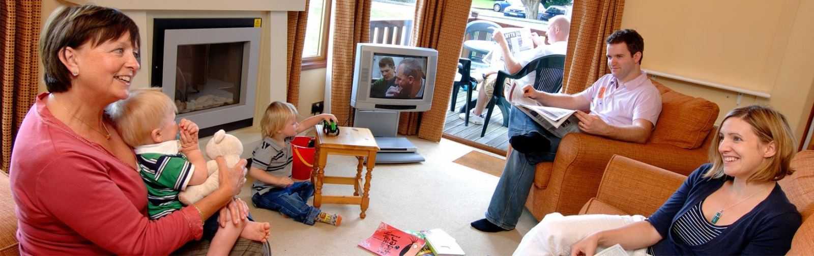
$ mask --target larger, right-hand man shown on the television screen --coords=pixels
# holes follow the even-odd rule
[[[424,71],[414,58],[401,60],[396,68],[396,86],[387,88],[385,97],[395,99],[422,99],[424,95]]]

